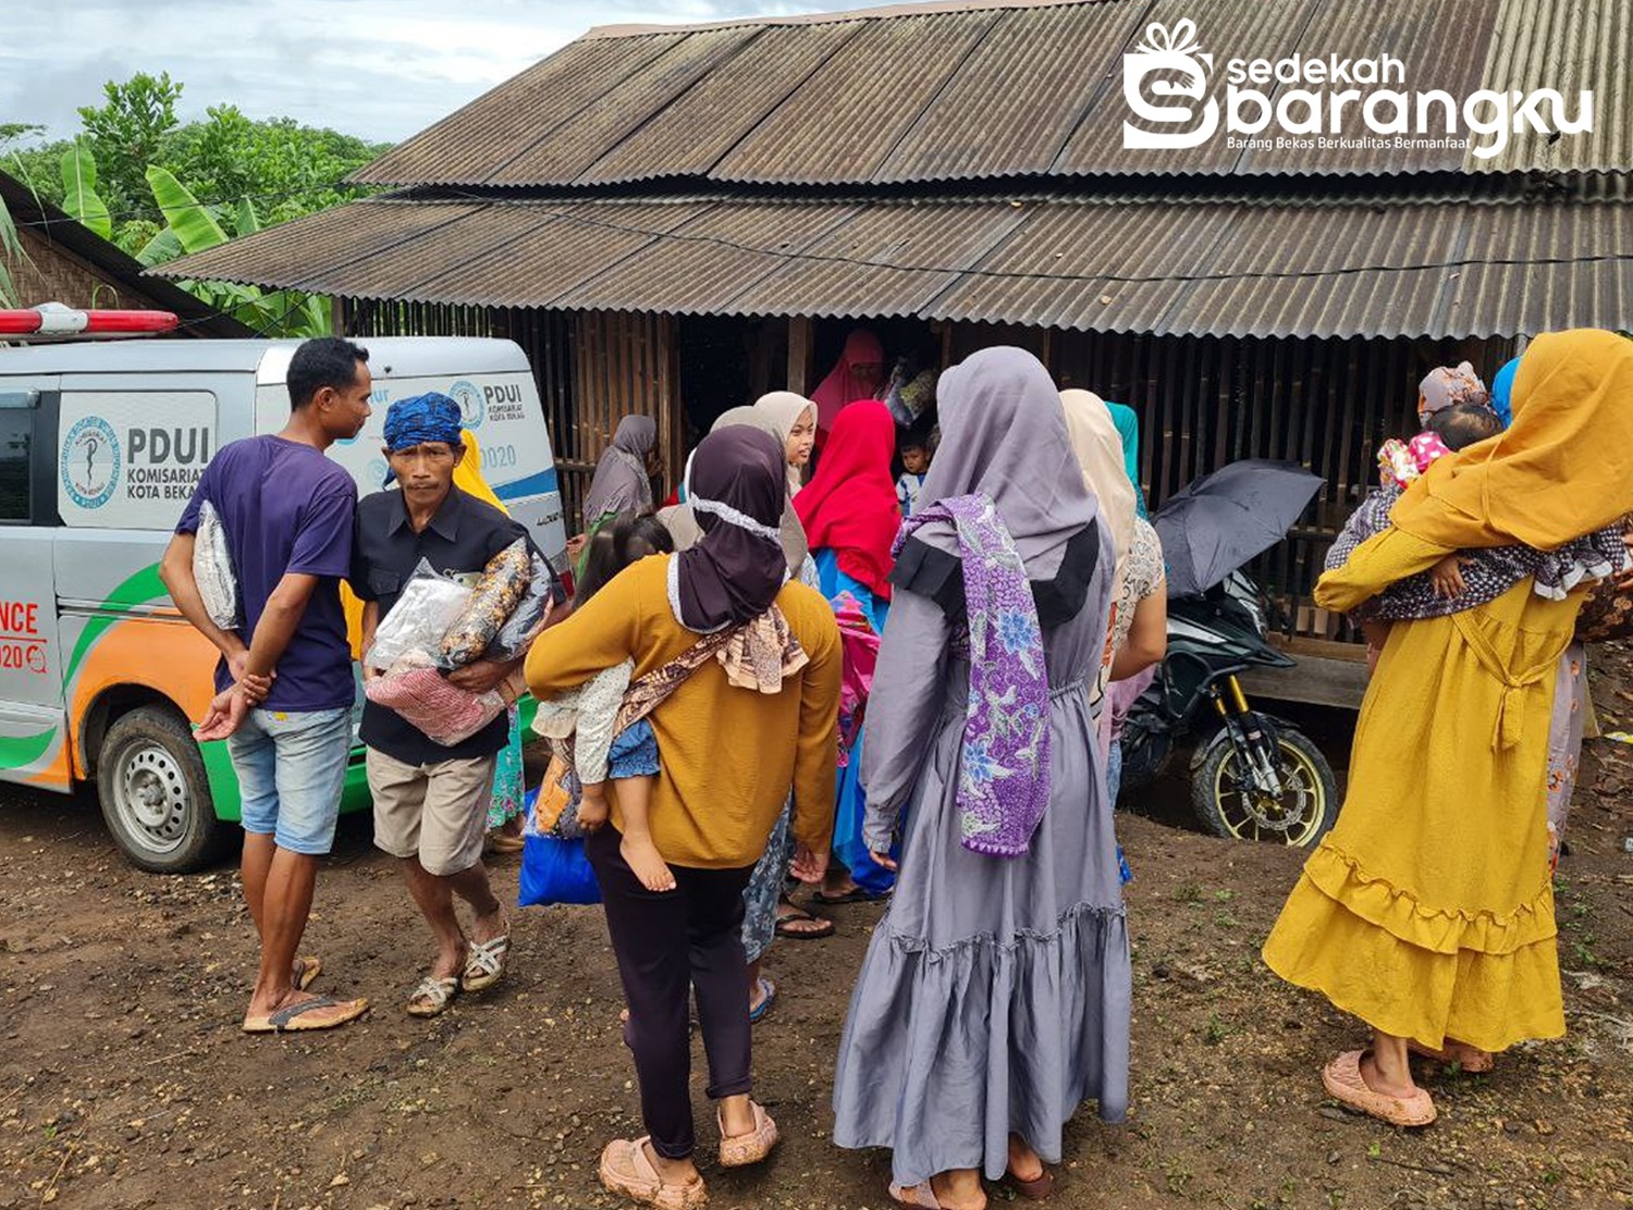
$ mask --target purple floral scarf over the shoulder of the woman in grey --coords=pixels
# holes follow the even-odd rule
[[[939,500],[901,523],[893,555],[919,526],[959,534],[968,616],[970,696],[959,761],[963,847],[1026,854],[1048,805],[1048,673],[1037,604],[1014,539],[985,495]]]

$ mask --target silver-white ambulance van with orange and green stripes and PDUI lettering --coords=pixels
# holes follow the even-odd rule
[[[439,390],[464,408],[493,492],[565,567],[555,462],[521,348],[359,343],[374,415],[330,449],[358,492],[382,487],[392,400]],[[189,728],[209,702],[216,650],[171,604],[158,558],[211,456],[284,426],[297,346],[0,346],[0,781],[64,794],[95,782],[109,830],[142,869],[198,869],[238,818],[225,745],[201,746]],[[363,805],[358,750],[346,807]]]

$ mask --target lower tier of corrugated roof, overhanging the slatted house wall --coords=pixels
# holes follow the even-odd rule
[[[371,199],[158,271],[516,307],[1486,338],[1623,327],[1633,206]]]

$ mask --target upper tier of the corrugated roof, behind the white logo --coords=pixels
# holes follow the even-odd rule
[[[1595,91],[1591,134],[1450,147],[1128,150],[1124,56],[1194,21],[1213,56],[1404,64],[1408,93]],[[591,33],[358,173],[372,185],[585,186],[656,178],[913,185],[996,176],[1633,170],[1626,0],[1040,0]],[[1174,73],[1153,80],[1176,82]],[[1150,83],[1150,82],[1148,82]],[[1267,83],[1280,101],[1303,85]],[[1334,90],[1324,95],[1333,96]],[[1318,90],[1319,93],[1319,90]],[[1295,105],[1290,101],[1290,105]],[[1300,108],[1295,105],[1295,108]],[[1388,106],[1385,106],[1388,109]],[[1155,129],[1150,122],[1135,122]],[[1360,106],[1346,136],[1370,134]]]

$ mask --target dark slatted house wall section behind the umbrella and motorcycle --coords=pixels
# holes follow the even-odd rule
[[[1302,462],[1328,482],[1282,542],[1249,573],[1279,606],[1287,634],[1350,637],[1310,591],[1346,518],[1377,485],[1377,449],[1416,433],[1417,382],[1470,359],[1489,379],[1504,341],[1215,340],[1057,331],[1050,369],[1140,413],[1140,480],[1151,508],[1226,462]]]

